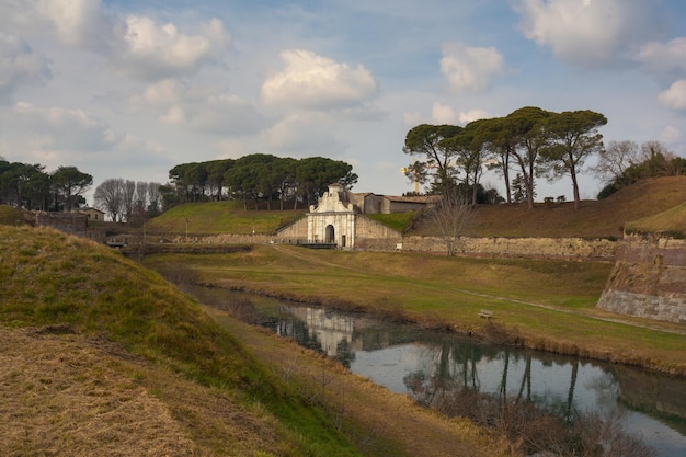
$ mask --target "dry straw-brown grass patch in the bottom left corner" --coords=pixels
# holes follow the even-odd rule
[[[216,389],[60,328],[0,327],[0,455],[245,456],[268,420]]]

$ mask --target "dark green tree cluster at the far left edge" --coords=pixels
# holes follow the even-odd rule
[[[0,157],[0,204],[15,208],[70,212],[85,204],[93,176],[76,167],[48,173],[37,163],[8,162]]]

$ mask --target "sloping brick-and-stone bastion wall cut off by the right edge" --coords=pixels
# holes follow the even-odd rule
[[[686,241],[626,237],[597,307],[686,323]]]

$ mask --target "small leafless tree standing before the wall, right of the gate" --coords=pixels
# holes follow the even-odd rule
[[[457,190],[447,192],[432,209],[432,219],[441,230],[448,255],[455,255],[465,224],[473,214],[473,206]]]

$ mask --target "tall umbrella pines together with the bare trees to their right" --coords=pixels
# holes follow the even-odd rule
[[[421,124],[405,136],[403,152],[415,160],[404,171],[415,183],[430,184],[428,193],[459,191],[475,205],[481,203],[482,173],[492,170],[503,176],[505,201],[526,202],[529,208],[534,207],[537,179],[554,181],[565,175],[571,179],[574,207],[579,208],[578,176],[593,156],[596,164],[587,171],[606,184],[598,198],[644,178],[686,172],[686,159],[659,141],[647,141],[640,148],[633,141],[610,141],[605,148],[598,133],[605,124],[603,114],[590,110],[556,113],[535,106],[465,127]]]

